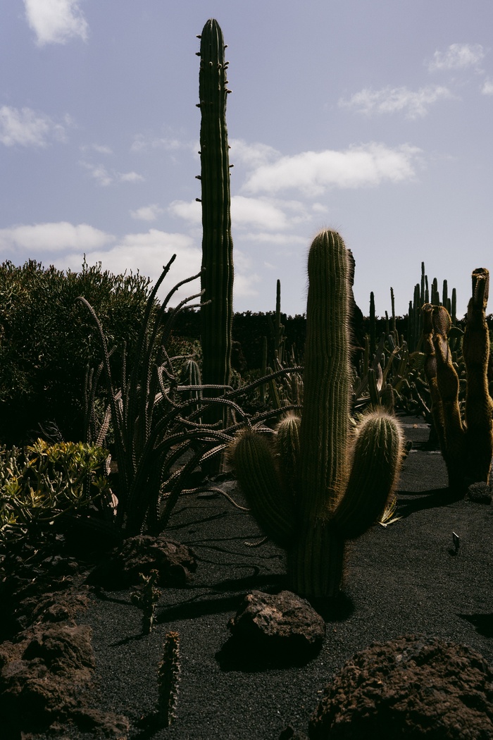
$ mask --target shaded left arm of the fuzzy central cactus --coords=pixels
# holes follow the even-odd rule
[[[271,445],[251,429],[239,434],[231,451],[237,480],[256,521],[281,547],[293,537],[293,501],[282,489]]]

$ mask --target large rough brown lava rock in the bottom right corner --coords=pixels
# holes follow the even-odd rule
[[[493,738],[493,673],[465,645],[406,635],[356,653],[329,684],[310,740]]]

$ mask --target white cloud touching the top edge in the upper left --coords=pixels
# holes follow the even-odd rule
[[[66,44],[75,36],[86,41],[89,26],[78,6],[79,0],[24,0],[38,46]]]

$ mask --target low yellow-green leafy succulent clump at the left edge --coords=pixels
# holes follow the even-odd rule
[[[87,514],[110,499],[108,452],[98,445],[37,440],[0,448],[0,539],[39,536],[56,519]]]

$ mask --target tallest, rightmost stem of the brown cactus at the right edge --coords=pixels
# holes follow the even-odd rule
[[[493,403],[488,387],[489,331],[485,316],[488,290],[488,270],[475,270],[463,337],[467,371],[466,440],[473,482],[489,481],[493,456]]]

